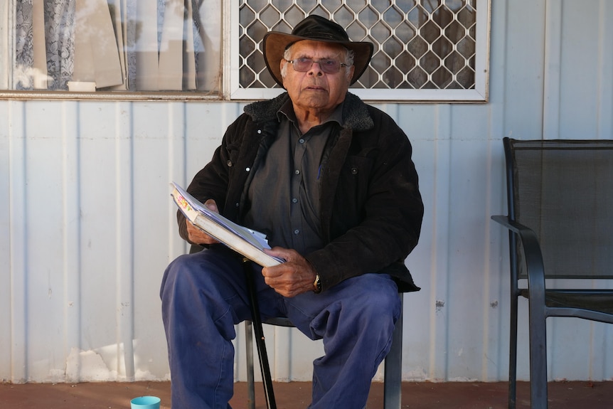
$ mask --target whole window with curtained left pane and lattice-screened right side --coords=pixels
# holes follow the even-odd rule
[[[371,41],[351,92],[371,101],[487,100],[491,0],[2,0],[0,97],[228,99],[282,90],[267,31],[310,14]]]

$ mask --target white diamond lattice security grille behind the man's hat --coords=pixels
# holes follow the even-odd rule
[[[290,33],[318,14],[351,40],[371,41],[371,64],[353,87],[469,90],[475,87],[476,0],[242,0],[240,87],[278,87],[262,56],[267,31]]]

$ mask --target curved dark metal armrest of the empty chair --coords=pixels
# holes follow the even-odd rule
[[[519,238],[523,247],[523,254],[526,257],[526,273],[528,274],[530,297],[531,299],[536,297],[536,299],[533,299],[534,301],[545,304],[545,265],[538,237],[531,228],[516,221],[511,221],[508,216],[491,216],[491,219],[511,230]]]

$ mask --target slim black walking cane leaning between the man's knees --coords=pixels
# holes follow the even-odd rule
[[[274,402],[274,391],[272,391],[272,376],[270,375],[270,366],[268,365],[268,355],[266,354],[266,344],[264,338],[264,330],[262,329],[262,318],[260,317],[260,307],[257,304],[257,290],[255,290],[255,277],[251,260],[248,258],[242,259],[242,268],[245,272],[245,281],[247,282],[247,292],[249,292],[249,302],[251,306],[251,322],[255,333],[255,346],[257,347],[257,356],[260,358],[260,370],[262,371],[262,383],[264,383],[264,394],[266,395],[266,407],[268,409],[277,409],[277,403]]]

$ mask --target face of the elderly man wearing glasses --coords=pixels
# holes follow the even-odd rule
[[[337,60],[345,62],[345,51],[339,46],[318,41],[304,40],[294,43],[290,60],[311,58],[312,60]],[[281,70],[287,64],[283,85],[294,102],[294,107],[303,110],[334,110],[345,99],[354,67],[346,75],[346,67],[338,73],[326,73],[319,63],[313,63],[306,73],[294,70],[294,66],[281,60]]]

